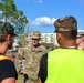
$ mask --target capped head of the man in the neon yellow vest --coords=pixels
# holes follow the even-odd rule
[[[69,17],[57,19],[54,22],[54,27],[55,27],[57,42],[60,44],[63,42],[63,40],[66,40],[66,41],[76,40],[77,21],[74,17],[69,15]]]

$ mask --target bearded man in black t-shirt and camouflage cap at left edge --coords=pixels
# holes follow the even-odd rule
[[[18,74],[10,58],[6,56],[8,49],[12,49],[14,28],[8,22],[0,22],[0,83],[15,83]]]

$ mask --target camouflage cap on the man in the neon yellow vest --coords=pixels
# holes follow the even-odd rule
[[[74,17],[67,15],[65,18],[57,19],[54,22],[54,27],[55,27],[55,32],[77,30],[77,21]]]

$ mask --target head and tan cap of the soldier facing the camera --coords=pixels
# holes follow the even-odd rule
[[[33,31],[31,33],[31,39],[32,39],[32,45],[33,46],[38,46],[39,45],[39,41],[41,40],[40,31]]]

